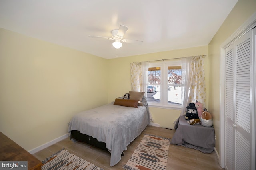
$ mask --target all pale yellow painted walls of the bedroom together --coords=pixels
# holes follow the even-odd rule
[[[208,46],[108,60],[0,28],[0,131],[31,150],[66,134],[75,113],[130,91],[131,62],[207,54],[206,108],[213,114],[218,152],[219,47],[254,12],[255,0],[239,0]],[[179,115],[150,111],[165,128],[173,128]]]

